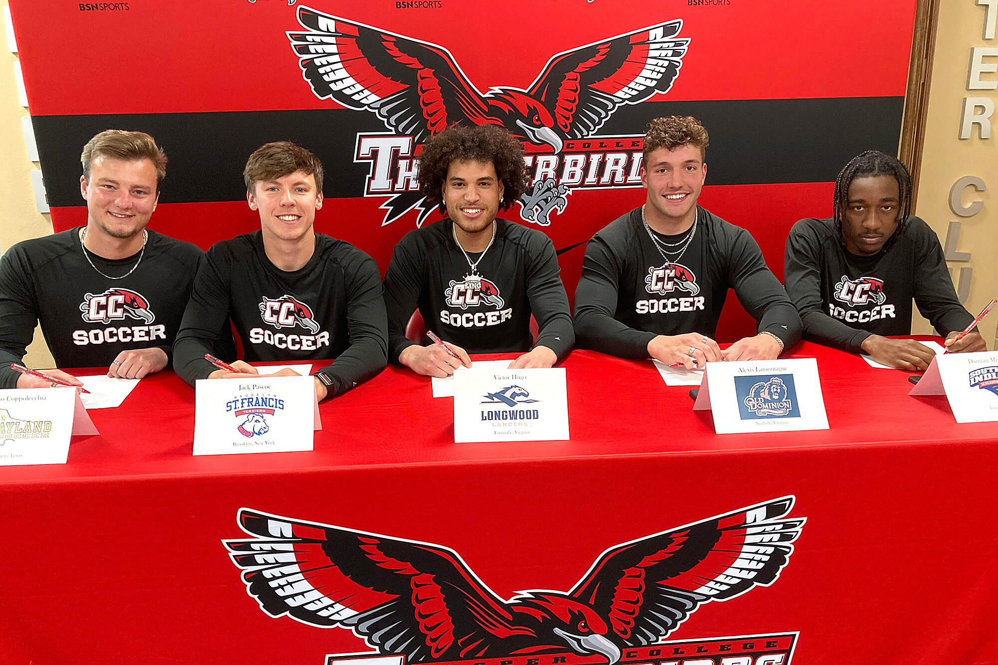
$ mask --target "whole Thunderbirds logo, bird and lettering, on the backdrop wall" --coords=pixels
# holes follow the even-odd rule
[[[659,23],[559,53],[527,89],[483,94],[442,46],[309,7],[297,20],[306,31],[286,34],[315,96],[374,113],[392,132],[357,134],[354,155],[370,163],[364,196],[390,197],[382,225],[416,210],[421,226],[432,212],[417,147],[455,124],[499,125],[527,144],[525,222],[549,225],[573,189],[640,187],[641,137],[594,135],[622,105],[669,92],[690,44],[677,37],[681,20]]]

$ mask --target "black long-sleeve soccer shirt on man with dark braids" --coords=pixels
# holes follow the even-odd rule
[[[855,353],[870,334],[910,334],[912,299],[943,336],[974,320],[956,297],[938,237],[917,217],[872,257],[847,252],[831,218],[800,220],[785,259],[786,293],[814,341]]]

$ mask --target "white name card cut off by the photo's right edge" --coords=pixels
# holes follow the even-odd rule
[[[936,355],[908,394],[945,394],[957,422],[998,420],[998,351]]]

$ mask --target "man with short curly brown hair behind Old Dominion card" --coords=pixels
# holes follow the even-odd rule
[[[749,232],[697,205],[709,138],[696,118],[656,118],[645,135],[645,205],[597,233],[575,292],[581,346],[703,367],[775,358],[800,318]],[[758,334],[721,350],[713,339],[729,288]]]

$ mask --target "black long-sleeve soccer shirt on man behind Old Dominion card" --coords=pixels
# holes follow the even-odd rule
[[[648,357],[648,342],[659,334],[714,336],[729,288],[760,333],[775,334],[784,348],[800,339],[800,318],[749,232],[698,211],[697,232],[678,263],[659,253],[640,208],[593,237],[575,292],[579,345]],[[666,243],[683,237],[660,236]]]

